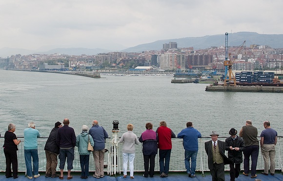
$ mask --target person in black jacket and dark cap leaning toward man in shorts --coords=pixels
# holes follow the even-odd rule
[[[44,150],[46,155],[46,172],[45,177],[56,178],[57,156],[59,154],[59,146],[56,143],[56,135],[58,129],[62,127],[61,122],[56,122],[55,127],[51,130],[48,140],[46,141]]]

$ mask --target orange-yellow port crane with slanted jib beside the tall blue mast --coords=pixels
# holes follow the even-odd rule
[[[231,53],[229,53],[229,60],[225,59],[225,61],[224,61],[225,69],[227,67],[227,74],[225,74],[226,76],[225,76],[225,79],[224,79],[224,86],[227,86],[228,84],[230,85],[230,83],[229,83],[230,81],[233,81],[234,82],[233,85],[236,86],[236,79],[235,79],[235,76],[232,72],[232,63],[234,63],[234,61],[236,60],[236,57],[240,54],[241,50],[243,49],[244,43],[245,43],[245,40],[239,46],[239,50],[236,53],[235,58],[233,60],[231,60]],[[228,81],[228,83],[226,83],[226,81]]]

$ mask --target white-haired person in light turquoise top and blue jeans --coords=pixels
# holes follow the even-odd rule
[[[40,133],[35,129],[35,123],[30,122],[28,128],[23,130],[24,135],[24,160],[26,166],[27,178],[32,179],[31,158],[33,160],[34,178],[40,177],[39,174],[39,155],[38,155],[38,138]]]

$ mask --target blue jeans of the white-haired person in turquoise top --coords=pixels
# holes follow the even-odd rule
[[[24,160],[26,166],[26,175],[32,177],[31,158],[33,161],[33,174],[39,174],[39,155],[37,149],[24,150]]]

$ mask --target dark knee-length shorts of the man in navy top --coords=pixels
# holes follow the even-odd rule
[[[60,159],[60,165],[59,168],[60,169],[64,169],[65,166],[65,161],[67,158],[67,169],[68,170],[72,170],[73,169],[73,160],[74,160],[74,148],[70,148],[70,149],[61,149],[60,148],[60,155],[59,155],[59,159]]]

